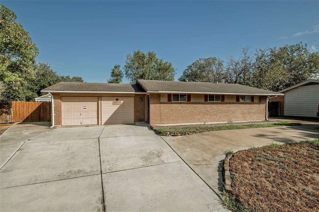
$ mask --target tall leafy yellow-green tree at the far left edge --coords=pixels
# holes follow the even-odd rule
[[[28,80],[34,77],[33,64],[38,49],[29,33],[15,20],[13,11],[0,4],[0,80],[1,88],[20,93]],[[23,98],[22,98],[23,99]]]

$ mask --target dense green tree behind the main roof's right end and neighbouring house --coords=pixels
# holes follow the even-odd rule
[[[307,44],[259,49],[248,85],[272,91],[288,88],[319,77],[319,53],[310,53]]]

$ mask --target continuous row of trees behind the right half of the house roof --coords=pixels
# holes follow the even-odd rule
[[[241,56],[229,57],[224,64],[217,58],[200,58],[187,66],[179,81],[238,83],[279,91],[308,79],[319,78],[319,53],[310,53],[306,44],[297,43],[279,48],[249,52],[242,48]]]

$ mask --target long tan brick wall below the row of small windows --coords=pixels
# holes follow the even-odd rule
[[[260,102],[160,102],[150,94],[150,124],[265,120],[266,97]]]

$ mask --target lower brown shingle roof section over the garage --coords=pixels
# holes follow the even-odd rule
[[[57,93],[146,93],[136,84],[122,83],[92,83],[92,82],[59,82],[41,92]]]

